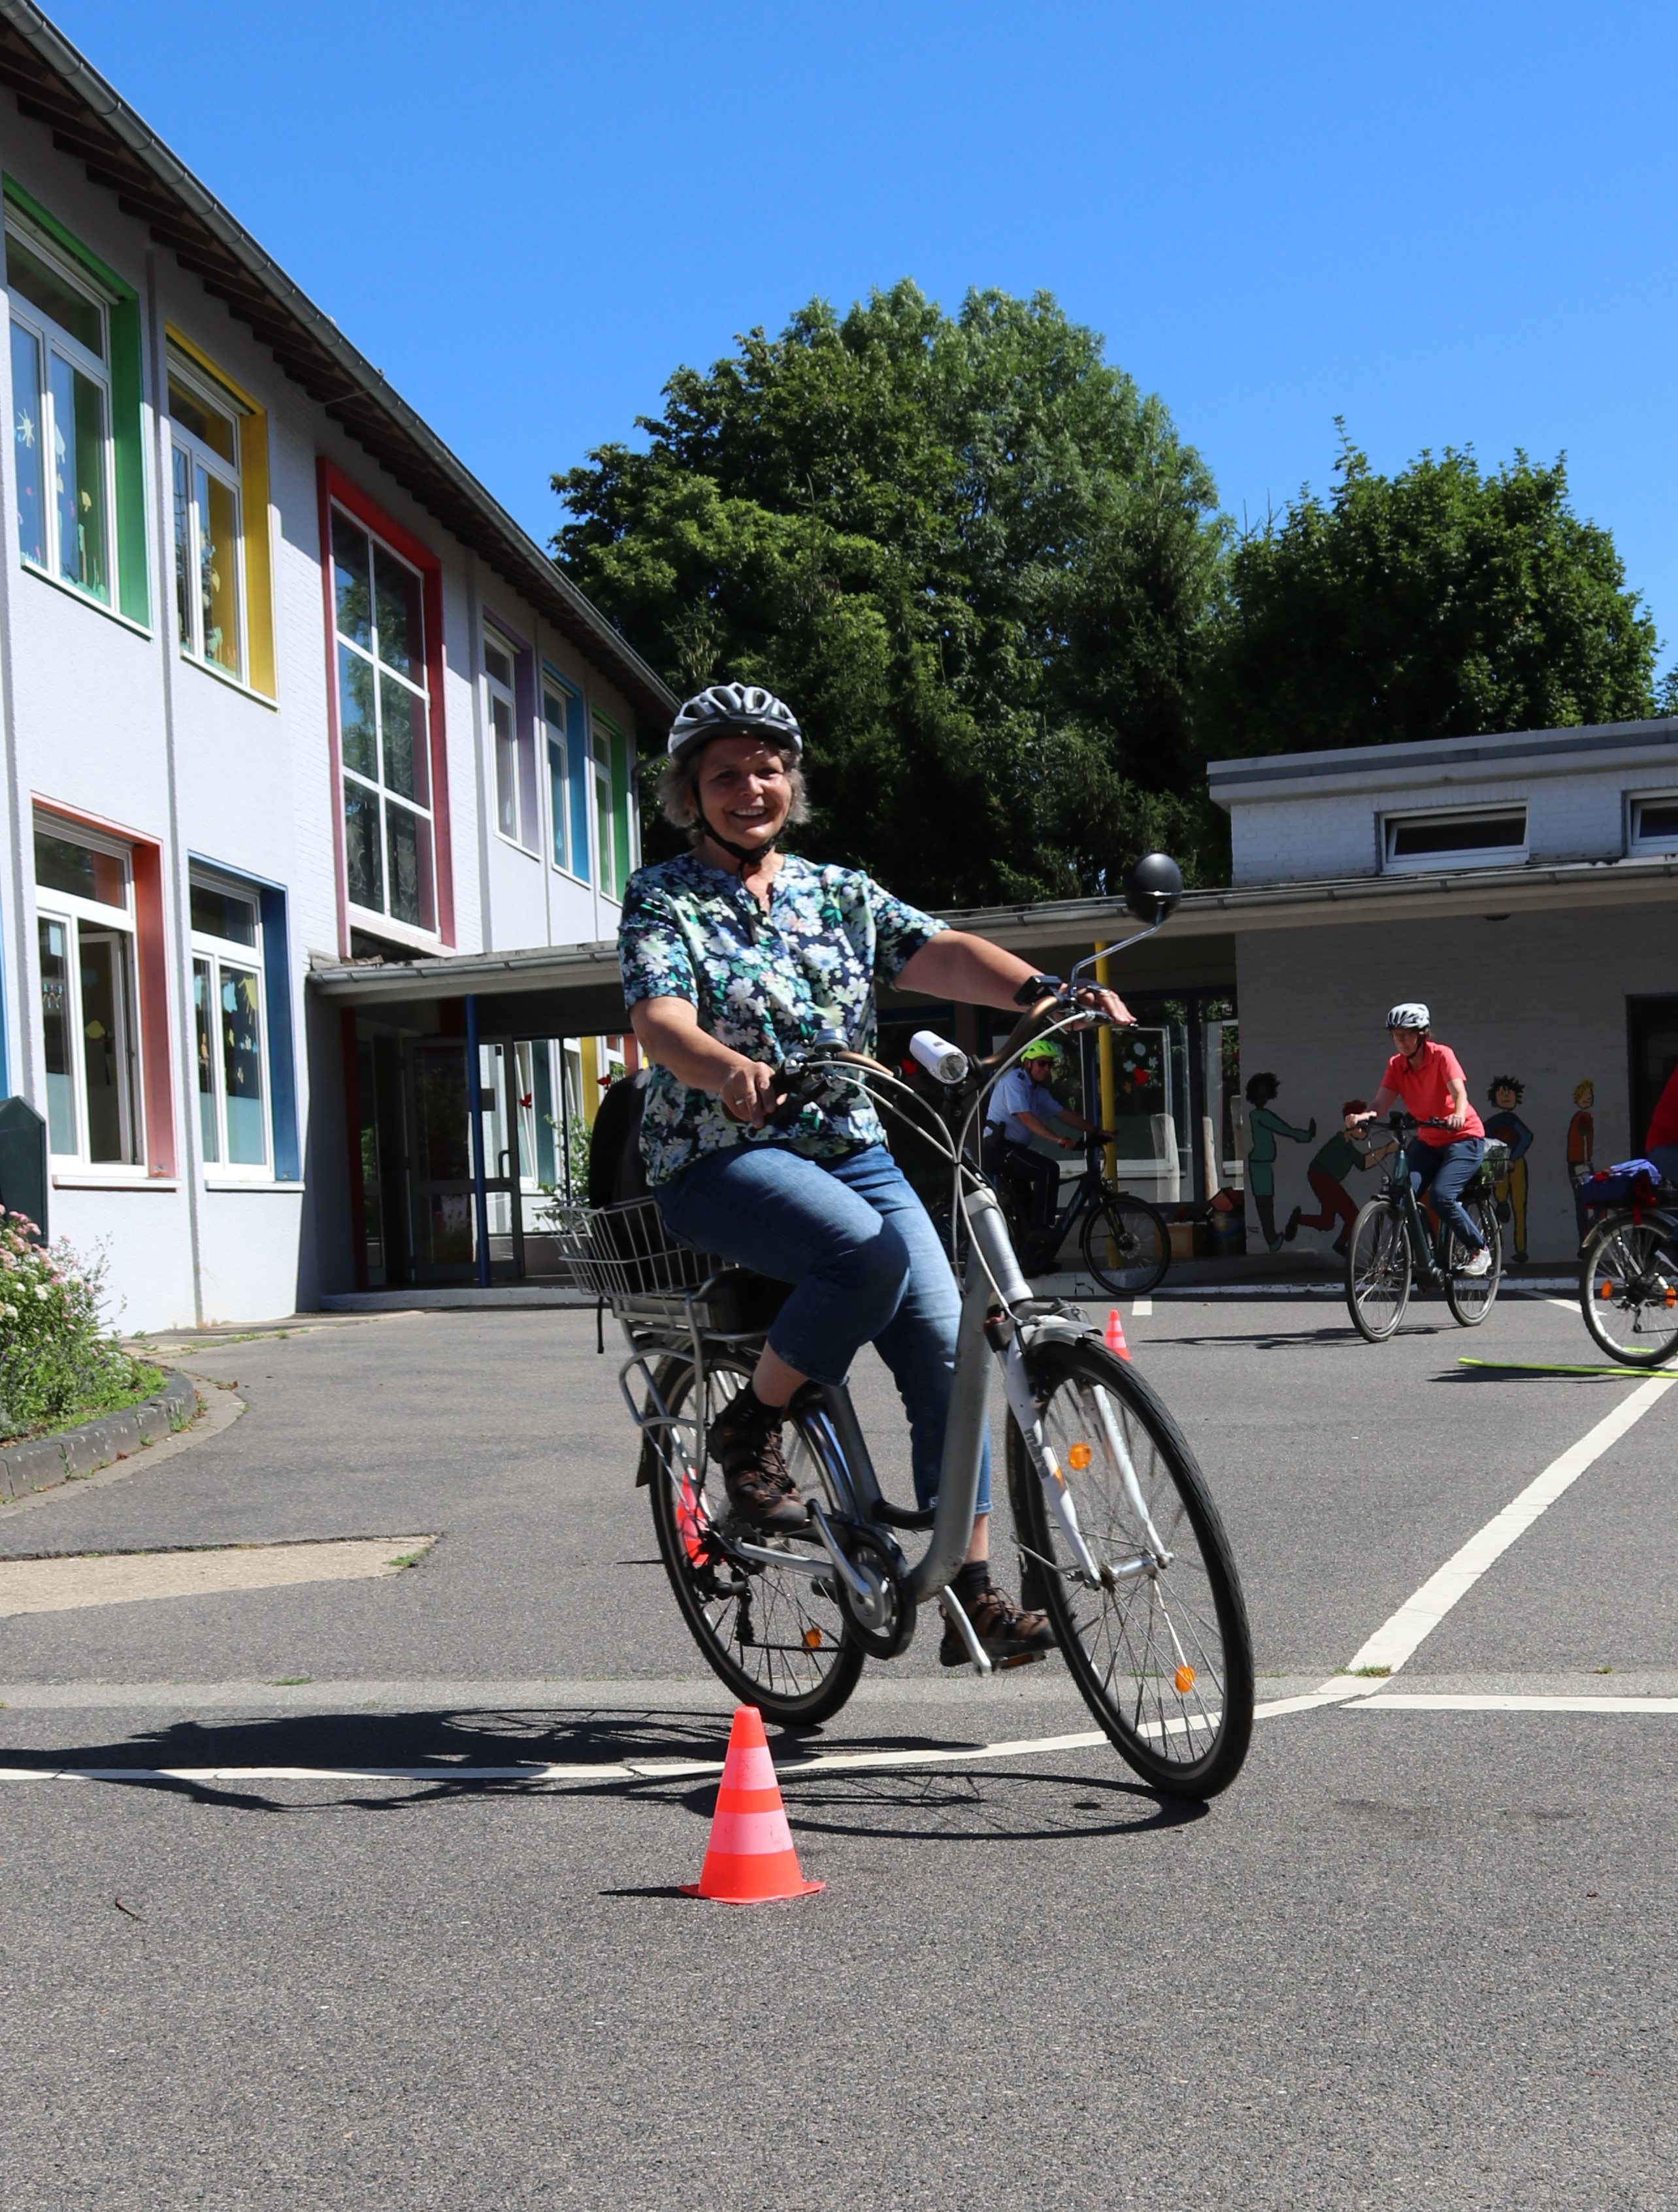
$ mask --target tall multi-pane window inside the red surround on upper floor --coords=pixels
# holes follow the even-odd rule
[[[343,856],[350,905],[436,929],[421,580],[332,509]]]

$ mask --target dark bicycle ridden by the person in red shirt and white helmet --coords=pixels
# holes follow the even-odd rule
[[[1403,1321],[1410,1283],[1443,1287],[1446,1305],[1463,1329],[1477,1329],[1496,1303],[1503,1281],[1503,1232],[1496,1221],[1494,1183],[1503,1172],[1508,1148],[1488,1144],[1474,1175],[1463,1183],[1461,1208],[1481,1232],[1492,1265],[1485,1274],[1463,1274],[1472,1259],[1461,1234],[1450,1225],[1439,1230],[1439,1248],[1421,1219],[1421,1206],[1410,1188],[1406,1144],[1419,1128],[1448,1128],[1446,1121],[1417,1121],[1408,1113],[1390,1113],[1388,1128],[1397,1137],[1386,1188],[1373,1197],[1346,1241],[1346,1305],[1359,1334],[1373,1345],[1384,1343]]]

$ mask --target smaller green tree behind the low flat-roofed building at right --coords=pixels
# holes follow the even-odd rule
[[[1656,630],[1567,467],[1468,451],[1377,476],[1342,429],[1229,553],[1200,732],[1209,757],[1627,721],[1656,712]]]

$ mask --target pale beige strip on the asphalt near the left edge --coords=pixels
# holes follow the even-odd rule
[[[0,1559],[0,1619],[133,1606],[155,1597],[279,1590],[299,1582],[394,1575],[398,1559],[429,1551],[434,1535],[350,1537],[328,1544],[232,1544],[213,1551],[84,1553],[69,1559]]]

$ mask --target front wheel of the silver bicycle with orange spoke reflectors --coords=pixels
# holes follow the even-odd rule
[[[1253,1736],[1253,1635],[1206,1478],[1153,1389],[1096,1338],[1040,1345],[1027,1374],[1098,1559],[1158,1562],[1156,1537],[1169,1553],[1164,1568],[1109,1588],[1074,1584],[1060,1517],[1007,1422],[1009,1495],[1025,1502],[1027,1542],[1047,1562],[1040,1588],[1067,1670],[1118,1754],[1164,1796],[1200,1803],[1229,1790]],[[1114,1455],[1102,1398],[1147,1520]]]

